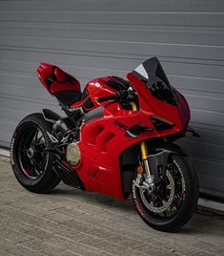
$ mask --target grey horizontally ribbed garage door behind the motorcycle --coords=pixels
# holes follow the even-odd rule
[[[156,55],[201,135],[181,141],[201,191],[224,197],[223,11],[221,0],[0,1],[0,145],[22,117],[56,109],[35,74],[40,61],[84,85]]]

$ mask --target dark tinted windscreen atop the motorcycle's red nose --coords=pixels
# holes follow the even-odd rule
[[[132,74],[146,83],[154,97],[174,106],[177,105],[177,97],[173,87],[170,85],[167,75],[156,57],[140,64]]]

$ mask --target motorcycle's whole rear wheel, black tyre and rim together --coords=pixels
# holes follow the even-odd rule
[[[17,181],[34,193],[48,193],[60,179],[52,170],[51,123],[42,114],[25,117],[16,127],[10,143],[10,161]]]

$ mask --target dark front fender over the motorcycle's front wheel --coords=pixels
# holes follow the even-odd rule
[[[155,145],[152,148],[153,154],[148,156],[151,173],[154,182],[158,183],[166,174],[166,166],[170,155],[180,155],[187,157],[187,154],[176,144],[164,143]]]

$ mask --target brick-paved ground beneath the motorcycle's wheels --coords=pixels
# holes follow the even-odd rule
[[[224,219],[194,214],[162,233],[124,203],[64,184],[48,195],[26,191],[0,157],[0,255],[224,255]]]

